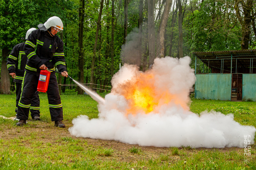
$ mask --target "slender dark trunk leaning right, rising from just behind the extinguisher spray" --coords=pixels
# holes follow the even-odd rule
[[[99,9],[99,17],[97,21],[97,28],[96,28],[96,35],[95,35],[95,42],[94,42],[94,48],[93,48],[93,59],[91,61],[91,80],[90,80],[90,89],[93,89],[93,80],[94,80],[94,64],[95,64],[95,58],[96,58],[96,49],[97,49],[97,43],[98,43],[98,36],[99,36],[99,27],[101,25],[101,14],[103,9],[103,2],[104,0],[101,0],[101,7]]]

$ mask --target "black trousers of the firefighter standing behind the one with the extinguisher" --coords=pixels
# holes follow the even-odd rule
[[[15,85],[16,85],[16,109],[15,109],[15,112],[17,113],[22,83],[16,82]],[[38,94],[39,94],[39,91],[36,91],[35,94],[33,95],[32,101],[31,101],[31,106],[30,106],[31,118],[34,118],[35,116],[40,117],[40,110],[39,110],[40,109],[40,99],[39,99]]]

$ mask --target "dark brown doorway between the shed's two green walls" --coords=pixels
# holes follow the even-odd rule
[[[231,100],[242,100],[242,74],[232,74]]]

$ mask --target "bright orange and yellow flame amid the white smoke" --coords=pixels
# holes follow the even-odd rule
[[[142,111],[148,114],[154,111],[156,107],[171,101],[185,110],[189,110],[189,101],[187,98],[182,98],[182,96],[186,96],[187,92],[171,94],[167,86],[159,89],[155,87],[155,76],[149,73],[141,73],[134,79],[125,81],[113,89],[114,92],[123,95],[128,100],[127,114],[135,115]]]

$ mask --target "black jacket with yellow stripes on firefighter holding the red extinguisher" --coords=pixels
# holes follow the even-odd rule
[[[39,67],[45,64],[49,70],[66,70],[63,41],[57,36],[50,36],[48,31],[34,30],[24,46],[27,55],[26,71],[39,76]]]

